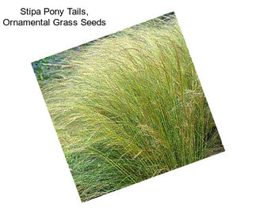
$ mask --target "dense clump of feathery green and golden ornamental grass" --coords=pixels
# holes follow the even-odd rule
[[[223,151],[175,19],[98,39],[68,63],[40,86],[82,201]]]

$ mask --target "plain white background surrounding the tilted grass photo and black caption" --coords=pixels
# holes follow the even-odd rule
[[[107,25],[4,27],[6,17],[25,18],[21,7],[82,7]],[[2,1],[0,213],[256,213],[254,9],[254,1]],[[81,203],[30,63],[171,11],[226,152]]]

